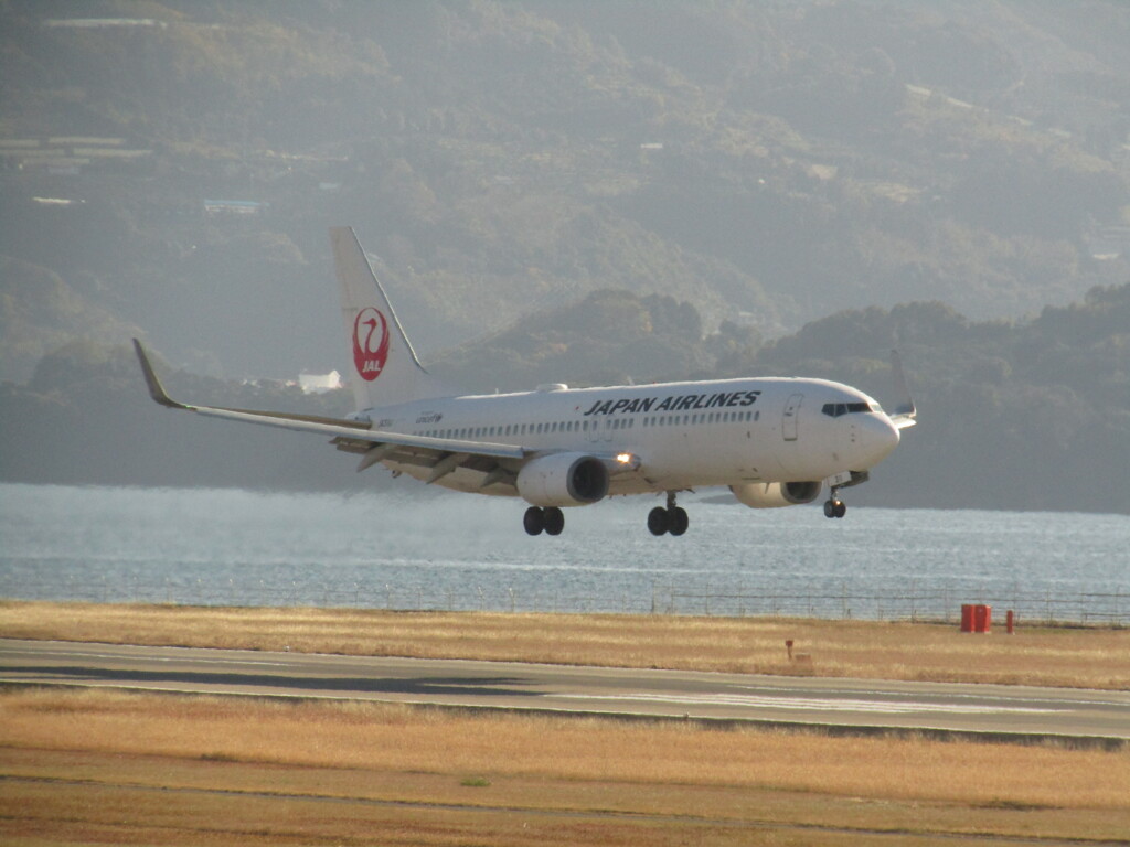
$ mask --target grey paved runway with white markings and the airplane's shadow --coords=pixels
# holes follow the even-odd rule
[[[1130,692],[0,639],[0,683],[1130,743]]]

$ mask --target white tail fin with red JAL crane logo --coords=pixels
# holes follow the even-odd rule
[[[330,246],[357,411],[445,394],[416,357],[353,228],[331,227]]]

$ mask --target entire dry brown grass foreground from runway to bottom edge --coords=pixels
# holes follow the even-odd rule
[[[0,693],[0,769],[6,844],[833,845],[895,831],[927,845],[1130,832],[1128,751],[379,704],[11,690]]]

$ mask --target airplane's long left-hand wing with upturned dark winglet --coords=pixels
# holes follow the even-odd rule
[[[358,466],[363,471],[377,462],[390,460],[408,460],[410,464],[429,464],[443,472],[480,460],[522,460],[534,451],[511,444],[493,444],[489,442],[469,442],[451,438],[428,438],[425,436],[385,433],[372,428],[367,420],[348,420],[344,418],[322,418],[313,414],[290,414],[287,412],[266,412],[253,409],[228,409],[224,407],[193,405],[182,403],[168,396],[165,387],[157,378],[149,357],[141,342],[133,339],[133,349],[141,373],[145,375],[149,396],[160,405],[169,409],[185,409],[209,418],[225,418],[246,424],[290,429],[299,433],[320,433],[333,436],[332,443],[339,449],[350,453],[362,453],[364,459]],[[434,463],[433,463],[434,461]],[[436,473],[435,479],[444,475]]]

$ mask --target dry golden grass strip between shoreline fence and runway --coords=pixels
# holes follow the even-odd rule
[[[1026,627],[1015,636],[956,626],[775,618],[218,609],[0,603],[14,638],[292,649],[421,658],[790,674],[784,641],[819,676],[1130,689],[1130,630]]]

